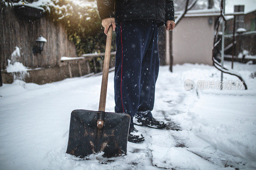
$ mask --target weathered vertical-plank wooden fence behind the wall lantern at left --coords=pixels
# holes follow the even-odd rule
[[[0,2],[0,61],[6,69],[16,47],[20,49],[17,62],[29,68],[57,66],[61,56],[76,57],[76,47],[68,40],[65,28],[49,18],[28,18],[14,12],[10,3]],[[47,39],[41,54],[33,54],[35,40]]]

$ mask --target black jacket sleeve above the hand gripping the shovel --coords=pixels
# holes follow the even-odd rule
[[[114,17],[115,0],[97,0],[100,19]]]

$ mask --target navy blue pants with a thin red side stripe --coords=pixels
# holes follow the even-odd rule
[[[116,25],[115,112],[152,117],[159,71],[157,23],[137,19]]]

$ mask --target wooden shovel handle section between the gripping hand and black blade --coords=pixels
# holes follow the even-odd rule
[[[113,27],[109,26],[108,33],[107,33],[105,56],[104,56],[103,74],[102,74],[101,90],[100,90],[100,105],[99,105],[99,111],[104,111],[104,112],[105,112],[105,107],[106,107],[106,97],[107,97],[107,87],[108,87],[108,70],[109,70],[112,32],[113,32]]]

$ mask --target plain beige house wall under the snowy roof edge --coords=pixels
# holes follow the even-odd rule
[[[184,17],[172,35],[173,64],[203,63],[212,65],[214,21],[210,17]]]

